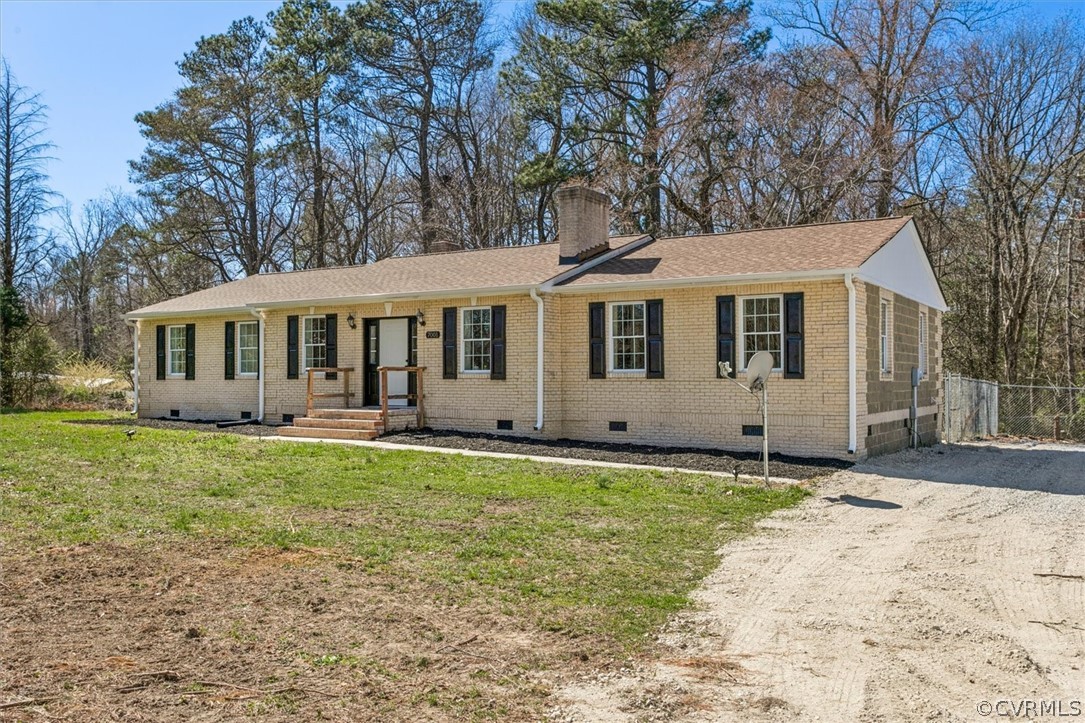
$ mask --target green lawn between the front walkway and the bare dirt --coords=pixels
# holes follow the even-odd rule
[[[0,417],[0,540],[318,547],[434,596],[637,648],[720,543],[796,504],[718,478]],[[113,423],[108,423],[108,422]]]

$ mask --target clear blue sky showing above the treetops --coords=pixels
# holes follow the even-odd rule
[[[503,24],[528,0],[498,0]],[[128,161],[143,150],[133,117],[177,88],[177,61],[205,35],[278,0],[0,0],[0,52],[49,106],[55,191],[79,207],[108,188],[129,190]],[[1085,0],[1032,0],[1041,17]]]

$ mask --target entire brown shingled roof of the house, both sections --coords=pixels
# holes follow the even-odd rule
[[[791,226],[710,236],[662,238],[564,281],[558,289],[617,282],[857,268],[904,228],[909,217]],[[612,250],[641,236],[612,237]],[[246,306],[330,303],[361,297],[456,295],[526,289],[569,266],[556,243],[397,256],[365,266],[260,274],[131,312],[131,317],[207,314]],[[589,262],[590,263],[590,262]]]

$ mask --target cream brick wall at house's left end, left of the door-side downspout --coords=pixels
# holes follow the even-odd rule
[[[226,322],[253,321],[252,316],[201,316],[142,319],[139,322],[139,416],[166,417],[170,409],[186,419],[240,419],[242,411],[257,414],[258,382],[251,378],[226,379]],[[155,327],[196,326],[196,378],[155,379]]]

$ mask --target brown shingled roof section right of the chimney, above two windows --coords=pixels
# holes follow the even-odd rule
[[[858,268],[909,220],[904,216],[662,238],[603,262],[561,286]]]

